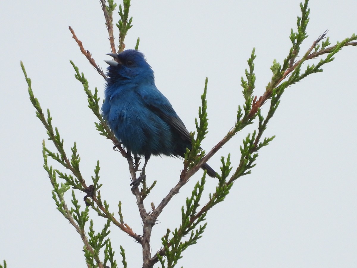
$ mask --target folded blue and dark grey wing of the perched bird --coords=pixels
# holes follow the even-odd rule
[[[138,94],[151,111],[176,130],[183,140],[191,143],[191,136],[186,126],[180,117],[178,117],[174,108],[172,108],[169,100],[166,99],[155,85],[141,87]]]

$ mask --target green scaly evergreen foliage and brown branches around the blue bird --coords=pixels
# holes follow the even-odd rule
[[[105,24],[107,26],[109,41],[112,52],[115,53],[116,47],[114,44],[113,36],[113,11],[116,8],[114,0],[101,0],[102,10],[104,12]],[[118,51],[122,51],[125,48],[125,36],[128,30],[132,27],[132,17],[129,19],[130,0],[124,0],[123,5],[119,5],[120,20],[116,24],[119,29],[119,45]],[[220,140],[217,145],[208,153],[201,149],[202,140],[208,133],[208,117],[207,117],[207,84],[206,78],[205,87],[201,96],[201,106],[198,109],[198,119],[196,122],[196,138],[195,133],[191,133],[192,148],[187,149],[184,160],[184,168],[181,173],[181,177],[177,185],[171,189],[169,194],[162,200],[162,202],[155,208],[154,203],[151,203],[152,212],[146,212],[143,200],[147,198],[151,190],[156,185],[156,180],[148,187],[146,184],[146,178],[142,179],[141,189],[133,187],[132,192],[135,195],[136,202],[139,208],[140,216],[143,220],[143,234],[136,234],[127,223],[124,221],[124,215],[122,214],[122,203],[118,203],[119,220],[116,219],[116,215],[109,209],[109,204],[106,200],[102,200],[99,189],[102,184],[99,183],[99,171],[100,163],[97,160],[94,168],[94,175],[91,176],[91,185],[87,185],[85,179],[80,172],[80,155],[77,150],[77,144],[74,142],[71,147],[70,155],[67,155],[64,149],[64,140],[61,139],[59,130],[52,125],[52,117],[50,111],[47,109],[46,115],[44,114],[39,100],[35,97],[31,88],[31,79],[27,77],[25,67],[21,62],[21,68],[24,72],[25,79],[28,85],[28,93],[30,101],[35,107],[37,118],[40,119],[42,124],[46,128],[48,139],[54,144],[55,151],[46,147],[45,141],[42,142],[42,155],[44,159],[44,169],[46,170],[50,182],[52,184],[52,198],[54,199],[57,210],[70,222],[70,224],[79,233],[84,243],[84,254],[87,267],[105,267],[110,263],[110,267],[117,267],[117,262],[114,259],[114,250],[109,238],[110,225],[119,227],[122,231],[130,235],[140,243],[143,248],[144,268],[153,267],[154,264],[160,262],[161,267],[175,267],[178,260],[182,258],[182,252],[186,250],[190,245],[196,244],[198,239],[202,237],[202,234],[207,226],[206,215],[208,211],[222,202],[229,194],[230,189],[233,187],[234,182],[243,175],[251,173],[253,167],[255,167],[256,159],[258,157],[258,150],[268,145],[275,136],[263,137],[263,133],[267,128],[267,124],[272,116],[275,114],[278,105],[280,104],[280,98],[285,89],[306,76],[318,73],[322,71],[322,65],[331,62],[334,59],[334,55],[347,45],[356,46],[357,42],[353,42],[357,39],[353,34],[350,38],[346,38],[341,42],[337,42],[336,45],[330,46],[331,43],[325,36],[327,32],[323,33],[317,38],[312,46],[305,52],[300,53],[301,44],[307,39],[306,33],[307,25],[309,22],[310,9],[308,8],[308,0],[300,4],[302,15],[297,18],[297,30],[291,30],[290,40],[292,46],[288,52],[287,57],[280,64],[276,59],[273,60],[271,66],[272,77],[265,88],[265,92],[261,96],[254,95],[256,75],[254,73],[254,60],[256,58],[255,49],[252,50],[251,56],[248,59],[248,69],[245,70],[245,78],[241,78],[241,86],[243,88],[242,94],[245,99],[244,103],[238,105],[237,121],[226,136]],[[89,51],[85,50],[82,43],[75,36],[74,31],[70,28],[73,38],[80,46],[81,52],[86,56],[90,63],[96,68],[104,78],[106,77],[103,71],[95,64],[94,59],[91,58]],[[137,39],[135,49],[139,47],[140,39]],[[320,44],[321,43],[321,44]],[[326,55],[324,59],[321,59],[317,64],[306,65],[305,69],[302,69],[303,63],[310,59],[318,58],[322,55]],[[87,96],[88,107],[96,116],[95,128],[99,131],[100,135],[110,139],[115,145],[115,149],[126,158],[129,166],[130,175],[132,180],[136,180],[136,172],[139,170],[140,158],[132,156],[129,151],[126,151],[121,147],[119,141],[115,138],[115,135],[107,126],[105,120],[100,114],[100,98],[98,97],[97,88],[94,89],[94,93],[89,88],[89,83],[83,73],[79,72],[79,68],[70,61],[75,71],[75,78],[80,81],[83,86],[84,92]],[[304,65],[305,66],[305,65]],[[261,107],[263,105],[269,105],[268,112],[264,116],[261,113]],[[257,119],[257,120],[256,120]],[[246,126],[256,123],[256,129],[252,133],[248,133],[246,138],[242,140],[240,150],[236,149],[233,153],[240,154],[240,161],[237,167],[232,166],[231,154],[221,157],[222,166],[220,168],[221,174],[218,174],[217,185],[212,193],[205,194],[204,186],[206,182],[206,173],[198,181],[192,190],[192,194],[189,198],[186,198],[186,203],[181,208],[181,223],[180,226],[175,228],[173,232],[167,229],[166,234],[162,237],[163,247],[157,250],[151,256],[150,248],[150,235],[151,229],[159,217],[162,210],[170,202],[171,198],[178,193],[181,187],[192,177],[193,174],[210,159],[218,150],[226,144],[231,138],[235,136],[239,131],[243,130]],[[48,164],[48,157],[53,159],[60,169],[55,169],[52,165]],[[233,170],[233,172],[232,172]],[[159,180],[160,181],[160,180]],[[67,191],[72,188],[71,194]],[[77,199],[75,193],[85,193],[84,202],[86,204],[84,209],[81,209],[80,201]],[[202,196],[208,196],[208,201],[201,205]],[[72,207],[67,205],[66,200],[71,200]],[[93,227],[93,221],[89,217],[89,210],[93,209],[100,217],[107,219],[104,227],[100,232],[96,232]],[[88,222],[90,224],[88,225]],[[86,234],[87,230],[87,234]],[[186,237],[187,238],[184,238]],[[104,255],[104,261],[101,262],[100,255]],[[120,246],[120,255],[122,257],[123,267],[127,267],[125,250]],[[0,268],[6,267],[0,265]]]

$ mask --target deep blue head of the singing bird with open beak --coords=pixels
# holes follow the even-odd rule
[[[141,81],[154,79],[154,72],[146,62],[144,54],[134,49],[127,49],[119,54],[109,53],[115,60],[105,60],[109,67],[107,69],[108,83],[122,81]]]

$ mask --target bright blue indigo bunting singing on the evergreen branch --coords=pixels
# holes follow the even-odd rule
[[[191,149],[190,133],[156,88],[154,71],[144,54],[128,49],[107,54],[105,100],[102,114],[116,138],[134,155],[145,157],[143,171],[151,155],[183,157]],[[216,177],[206,163],[202,169]]]

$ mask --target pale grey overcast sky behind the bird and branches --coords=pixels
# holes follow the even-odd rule
[[[238,104],[243,104],[240,79],[253,47],[258,96],[270,81],[273,59],[282,63],[288,54],[299,3],[133,0],[134,26],[126,48],[134,48],[140,36],[139,50],[155,71],[157,87],[189,130],[195,129],[208,76],[209,133],[202,146],[209,150],[235,123]],[[332,44],[357,32],[356,1],[322,5],[312,0],[310,8],[309,37],[302,52],[327,29]],[[80,236],[51,197],[42,168],[46,131],[29,101],[20,60],[42,109],[50,108],[68,154],[77,142],[87,183],[99,159],[102,198],[113,212],[121,200],[126,223],[141,234],[126,160],[95,130],[95,116],[69,63],[73,60],[91,90],[97,86],[103,95],[103,78],[68,30],[71,25],[96,62],[106,68],[103,60],[111,59],[105,55],[110,46],[99,1],[5,1],[0,13],[0,260],[6,259],[8,267],[86,267]],[[177,267],[357,266],[356,59],[356,47],[344,48],[323,73],[286,90],[265,132],[267,137],[276,135],[275,140],[260,151],[252,174],[239,179],[225,202],[211,209],[203,237],[183,253]],[[268,104],[264,113],[267,108]],[[211,167],[219,170],[221,156],[229,152],[236,167],[241,141],[252,129],[226,144],[210,160]],[[53,149],[50,141],[46,144]],[[60,168],[52,160],[49,164]],[[150,202],[158,204],[174,187],[182,167],[177,158],[150,159],[147,180],[158,183],[146,200],[147,210]],[[180,225],[181,206],[201,175],[197,172],[160,215],[152,233],[153,253],[161,247],[166,229]],[[207,179],[204,200],[215,187],[216,180]],[[84,194],[77,194],[82,200]],[[90,215],[100,231],[105,220],[93,211]],[[140,245],[115,227],[111,231],[119,267],[120,245],[126,250],[128,267],[141,267]]]

